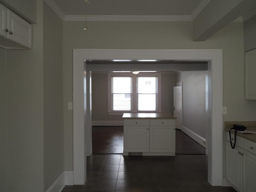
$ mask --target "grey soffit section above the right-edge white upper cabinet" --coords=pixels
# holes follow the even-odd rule
[[[244,22],[244,51],[256,48],[256,15]]]

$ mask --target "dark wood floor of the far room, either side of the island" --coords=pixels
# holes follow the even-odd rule
[[[92,154],[122,154],[123,126],[93,126]],[[176,130],[176,154],[205,154],[205,148]]]

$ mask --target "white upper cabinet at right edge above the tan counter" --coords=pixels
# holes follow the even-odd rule
[[[245,99],[256,100],[256,49],[245,53]]]

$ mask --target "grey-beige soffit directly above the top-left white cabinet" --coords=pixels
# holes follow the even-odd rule
[[[36,23],[36,2],[41,0],[0,0],[7,8],[30,23]]]

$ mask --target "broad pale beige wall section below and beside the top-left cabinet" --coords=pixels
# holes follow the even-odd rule
[[[42,11],[38,0],[32,49],[6,50],[8,192],[44,191]]]

